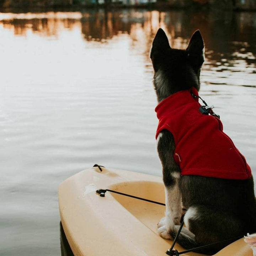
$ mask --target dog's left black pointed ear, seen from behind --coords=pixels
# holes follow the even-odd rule
[[[168,38],[165,32],[161,28],[159,28],[158,32],[155,35],[150,52],[150,59],[152,60],[155,71],[159,68],[162,54],[165,52],[165,50],[170,48],[171,47],[169,45]]]

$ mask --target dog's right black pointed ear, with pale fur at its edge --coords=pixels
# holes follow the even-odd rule
[[[193,65],[202,66],[204,62],[204,42],[199,30],[194,32],[187,47],[188,57]]]

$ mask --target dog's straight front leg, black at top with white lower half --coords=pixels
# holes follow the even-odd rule
[[[179,189],[180,168],[173,158],[174,138],[168,130],[159,135],[158,154],[162,162],[163,180],[165,184],[165,217],[158,223],[158,233],[162,238],[171,239],[170,231],[180,224],[182,214],[181,192]]]

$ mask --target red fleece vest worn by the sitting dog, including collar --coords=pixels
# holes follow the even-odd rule
[[[174,159],[181,175],[246,180],[251,177],[245,157],[223,132],[219,118],[198,109],[197,90],[183,90],[165,98],[155,108],[159,119],[156,138],[163,129],[174,136]]]

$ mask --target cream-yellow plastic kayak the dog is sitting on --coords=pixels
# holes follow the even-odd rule
[[[156,226],[165,206],[111,192],[100,197],[96,187],[165,202],[161,177],[94,167],[68,178],[59,186],[59,210],[75,256],[166,256],[172,241],[162,239]],[[215,255],[252,256],[252,250],[240,239]]]

